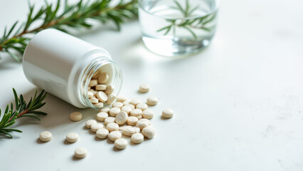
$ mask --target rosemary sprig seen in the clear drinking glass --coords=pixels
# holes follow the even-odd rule
[[[191,8],[190,4],[188,3],[188,0],[186,0],[186,6],[182,8],[181,4],[179,4],[178,1],[174,0],[174,3],[176,6],[171,6],[172,9],[176,9],[181,11],[184,18],[187,18],[193,14],[194,11],[196,11],[199,6],[195,6]],[[198,17],[195,19],[166,19],[167,22],[170,24],[168,26],[164,26],[163,28],[160,28],[157,30],[157,32],[165,31],[164,35],[167,35],[171,30],[173,31],[173,35],[176,36],[176,28],[184,28],[186,29],[193,38],[197,38],[196,33],[192,30],[192,28],[198,28],[203,29],[205,31],[211,31],[211,27],[207,27],[206,24],[210,23],[216,19],[216,13],[208,14],[207,16]]]

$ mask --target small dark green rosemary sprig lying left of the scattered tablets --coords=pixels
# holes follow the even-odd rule
[[[33,96],[33,98],[31,98],[31,100],[29,100],[28,103],[26,103],[26,101],[23,99],[23,95],[20,95],[20,98],[18,98],[18,95],[14,88],[13,91],[15,96],[16,108],[15,110],[13,109],[13,103],[11,103],[11,107],[9,107],[9,105],[6,105],[4,115],[2,117],[2,120],[0,121],[0,135],[8,136],[9,138],[13,138],[13,136],[9,132],[15,131],[18,133],[22,133],[21,130],[9,128],[11,125],[14,125],[14,123],[16,123],[17,118],[30,117],[40,120],[40,118],[38,118],[36,115],[47,115],[46,113],[37,111],[39,108],[46,104],[43,103],[43,100],[46,98],[47,95],[44,90],[42,90],[39,95],[37,95],[36,90],[35,95]]]

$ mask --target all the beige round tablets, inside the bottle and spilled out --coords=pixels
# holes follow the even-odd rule
[[[123,150],[127,147],[127,140],[122,138],[122,135],[129,137],[131,142],[139,144],[144,141],[144,138],[154,138],[154,127],[151,126],[150,120],[154,118],[154,111],[149,109],[149,106],[157,105],[159,99],[149,97],[143,103],[137,98],[128,100],[120,95],[117,98],[112,95],[114,88],[107,86],[110,77],[107,73],[97,71],[90,80],[90,87],[87,95],[90,102],[97,108],[100,108],[97,113],[97,120],[87,120],[85,128],[90,129],[92,133],[99,139],[108,138],[115,144],[115,148]],[[147,93],[149,85],[142,84],[139,86],[140,93]],[[102,108],[104,103],[108,107]],[[162,118],[172,118],[174,111],[166,108],[162,111]],[[77,122],[82,120],[82,113],[74,112],[70,114],[70,120]],[[101,122],[101,123],[100,123]],[[77,133],[68,133],[66,142],[77,142],[79,135]],[[39,139],[43,142],[48,142],[52,139],[52,134],[44,131],[40,134]],[[85,147],[78,147],[75,150],[75,157],[84,158],[87,155]]]

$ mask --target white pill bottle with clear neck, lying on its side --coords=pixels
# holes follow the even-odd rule
[[[90,79],[97,70],[110,76],[107,85],[115,88],[112,94],[117,96],[122,71],[103,48],[49,28],[37,33],[23,54],[28,81],[78,108],[97,108],[87,96]]]

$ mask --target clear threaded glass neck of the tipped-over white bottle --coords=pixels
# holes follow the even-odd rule
[[[106,71],[107,74],[109,74],[110,80],[108,81],[107,85],[111,85],[115,88],[112,95],[117,97],[122,87],[122,71],[115,62],[111,61],[111,59],[107,58],[106,56],[100,56],[91,61],[87,68],[85,68],[85,71],[80,78],[80,90],[78,90],[78,93],[80,93],[79,97],[83,105],[95,109],[99,108],[90,103],[87,91],[92,76],[98,70]],[[102,108],[107,106],[107,103],[103,103]]]

